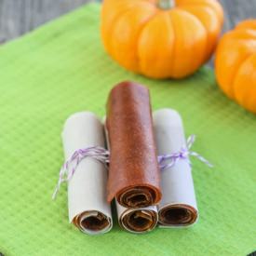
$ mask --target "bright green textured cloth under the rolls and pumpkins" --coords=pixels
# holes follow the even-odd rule
[[[8,255],[246,255],[256,249],[256,116],[226,99],[207,68],[182,81],[130,74],[101,46],[100,5],[90,4],[0,47],[0,251]],[[102,116],[122,80],[151,89],[154,109],[183,117],[194,150],[200,219],[188,229],[86,236],[68,223],[66,186],[51,195],[68,115]]]

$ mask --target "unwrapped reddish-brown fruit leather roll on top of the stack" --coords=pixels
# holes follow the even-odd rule
[[[147,88],[123,82],[107,102],[110,142],[108,201],[125,208],[156,205],[161,199],[159,168]]]

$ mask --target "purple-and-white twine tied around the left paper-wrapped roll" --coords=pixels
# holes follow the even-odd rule
[[[63,164],[60,170],[60,177],[52,195],[54,200],[61,189],[61,183],[69,182],[74,176],[74,171],[78,167],[79,163],[86,157],[91,157],[105,166],[109,162],[109,151],[101,147],[88,147],[85,149],[78,149],[74,151],[74,154]]]

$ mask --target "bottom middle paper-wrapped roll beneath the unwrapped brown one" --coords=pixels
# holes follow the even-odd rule
[[[105,123],[105,118],[103,118],[103,123]],[[105,138],[108,149],[108,131],[105,126]],[[128,232],[135,234],[147,233],[155,229],[158,222],[158,212],[156,206],[150,206],[140,209],[128,209],[122,207],[116,200],[115,206],[118,216],[119,225],[127,230]]]

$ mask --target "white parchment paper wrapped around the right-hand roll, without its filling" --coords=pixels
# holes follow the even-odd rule
[[[162,109],[154,112],[153,119],[157,154],[179,152],[186,144],[181,116],[174,110]],[[161,188],[163,197],[158,210],[168,206],[188,207],[196,212],[197,220],[194,182],[188,161],[179,160],[172,168],[161,170]]]

